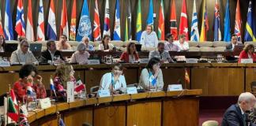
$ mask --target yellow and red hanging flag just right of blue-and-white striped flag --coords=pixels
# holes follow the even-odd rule
[[[208,24],[208,14],[206,9],[206,0],[203,0],[203,11],[202,11],[202,20],[201,20],[201,35],[200,42],[205,42],[207,40],[207,31],[209,30]]]

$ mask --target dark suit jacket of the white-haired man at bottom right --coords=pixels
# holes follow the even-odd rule
[[[242,112],[238,104],[226,110],[221,126],[243,126]]]

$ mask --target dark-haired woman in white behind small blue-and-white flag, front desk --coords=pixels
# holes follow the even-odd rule
[[[139,86],[145,91],[150,89],[163,90],[163,73],[160,69],[160,59],[152,57],[145,69],[142,69]]]

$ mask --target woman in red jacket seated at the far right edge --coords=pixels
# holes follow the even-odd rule
[[[241,59],[244,58],[252,58],[253,61],[256,61],[256,55],[254,54],[254,45],[248,44],[244,47],[243,51],[239,54],[239,63],[241,63]]]

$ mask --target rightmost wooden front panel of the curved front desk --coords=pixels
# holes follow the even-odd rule
[[[172,98],[163,103],[163,126],[198,126],[198,98]]]

